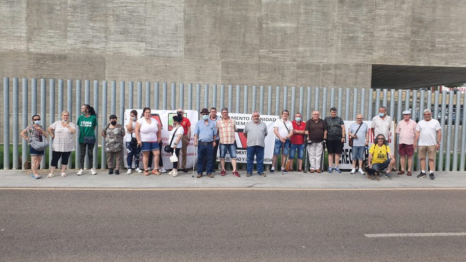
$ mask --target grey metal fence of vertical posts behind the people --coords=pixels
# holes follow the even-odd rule
[[[21,89],[20,86],[22,86]],[[40,88],[39,94],[38,88]],[[283,109],[288,109],[292,119],[294,119],[295,112],[301,112],[303,119],[309,119],[312,110],[319,110],[321,117],[325,118],[331,107],[337,107],[337,115],[343,120],[355,120],[358,113],[362,113],[365,120],[370,120],[377,114],[377,109],[383,105],[387,107],[388,115],[396,122],[402,120],[403,110],[412,110],[415,120],[415,112],[420,112],[417,115],[422,117],[423,109],[429,108],[433,110],[434,119],[438,119],[442,127],[440,152],[444,154],[438,154],[437,170],[465,170],[466,129],[462,127],[461,121],[466,119],[466,110],[462,109],[465,105],[466,94],[459,92],[309,86],[201,85],[200,83],[168,84],[167,82],[162,82],[160,85],[159,82],[149,81],[144,83],[136,81],[136,85],[133,81],[119,81],[118,95],[117,91],[115,80],[93,80],[91,89],[90,80],[58,79],[56,81],[56,79],[13,78],[10,82],[10,78],[3,78],[4,118],[1,120],[0,129],[3,129],[3,144],[13,145],[12,166],[10,166],[10,154],[5,150],[3,169],[18,169],[22,166],[18,156],[19,133],[30,123],[32,115],[39,113],[42,125],[47,128],[55,119],[60,119],[63,110],[69,111],[70,121],[74,121],[80,114],[80,106],[90,104],[98,114],[99,126],[96,128],[96,138],[101,146],[104,145],[105,140],[100,139],[99,127],[107,124],[107,117],[110,114],[117,115],[119,122],[123,124],[125,108],[147,106],[153,109],[182,107],[200,110],[202,105],[207,108],[228,107],[230,112],[234,113],[251,113],[259,110],[261,114],[268,115],[280,115]],[[21,103],[20,96],[22,96]],[[38,98],[40,98],[39,102]],[[37,111],[38,108],[40,111]],[[21,130],[19,129],[20,114],[22,115]],[[78,142],[76,143],[79,148]],[[27,141],[22,139],[21,145],[22,159],[26,159]],[[94,168],[98,168],[97,151],[98,147],[95,147],[94,156],[96,157],[92,163]],[[49,148],[50,156],[51,153],[52,149]],[[105,159],[103,150],[101,168],[105,168]],[[44,167],[48,160],[51,159],[43,157],[41,166]],[[399,157],[397,157],[397,162],[399,162]],[[79,150],[75,155],[75,168],[78,164]],[[86,159],[85,167],[88,166]],[[72,168],[71,164],[69,167]],[[417,161],[416,169],[419,170],[419,161]]]

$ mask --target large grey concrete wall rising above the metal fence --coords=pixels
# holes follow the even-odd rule
[[[466,66],[465,0],[0,0],[0,76],[370,87]]]

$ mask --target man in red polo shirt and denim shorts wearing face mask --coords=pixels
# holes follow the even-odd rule
[[[291,146],[289,151],[289,170],[293,171],[293,160],[298,151],[298,165],[296,168],[298,172],[303,172],[303,157],[304,157],[304,130],[306,129],[306,123],[301,119],[301,113],[296,113],[294,115],[294,121],[291,121],[293,124],[293,135],[290,138]]]

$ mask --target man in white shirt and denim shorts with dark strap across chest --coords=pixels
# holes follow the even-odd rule
[[[286,109],[283,110],[282,118],[277,119],[273,125],[273,132],[275,134],[275,146],[273,149],[272,168],[270,169],[270,173],[275,172],[275,164],[277,162],[278,156],[280,155],[280,150],[282,150],[282,169],[284,169],[286,164],[286,157],[289,154],[289,138],[293,135],[293,124],[288,120],[288,115],[289,111]],[[283,170],[283,173],[287,172],[287,170]]]

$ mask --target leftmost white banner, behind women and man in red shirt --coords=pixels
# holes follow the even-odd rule
[[[128,130],[126,128],[126,125],[129,122],[129,112],[132,110],[137,111],[137,116],[138,119],[142,115],[142,109],[125,109],[125,131],[127,131],[124,140],[127,141],[127,136],[130,134],[128,133]],[[160,149],[160,156],[162,157],[164,167],[172,168],[172,162],[170,162],[170,153],[166,153],[163,151],[163,148],[170,142],[168,140],[169,138],[169,131],[173,129],[173,116],[177,114],[176,110],[151,110],[152,117],[155,118],[159,126],[162,127],[161,130],[161,135],[162,135],[162,148]],[[199,113],[197,110],[184,110],[184,117],[188,118],[189,121],[191,122],[191,130],[194,130],[194,125],[196,124],[198,120]],[[128,150],[126,147],[123,148],[123,153],[125,156],[125,167],[128,167],[128,161],[126,161],[126,157],[128,156]],[[186,168],[192,168],[193,163],[194,163],[194,133],[191,131],[191,137],[189,139],[189,145],[187,148],[187,154],[186,154]],[[140,157],[140,163],[139,163],[139,168],[142,169],[143,164],[142,164],[142,155]],[[180,158],[181,158],[181,152],[180,152]],[[180,159],[181,160],[181,159]],[[134,165],[134,163],[133,163]],[[154,166],[154,163],[153,163]],[[134,168],[134,166],[132,166]]]

